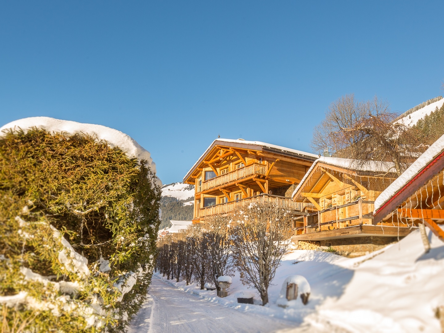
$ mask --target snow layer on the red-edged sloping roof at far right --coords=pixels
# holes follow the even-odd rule
[[[438,101],[440,102],[440,101]],[[432,103],[433,104],[433,103]],[[432,105],[430,104],[430,105]],[[404,187],[412,178],[414,178],[425,166],[427,166],[437,155],[444,150],[444,135],[442,135],[435,143],[432,144],[411,166],[408,167],[394,182],[390,184],[375,200],[376,212],[385,204],[393,195]]]

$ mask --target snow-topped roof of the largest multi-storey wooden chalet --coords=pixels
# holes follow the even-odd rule
[[[206,149],[206,151],[199,157],[196,163],[191,167],[191,169],[186,173],[186,176],[183,178],[183,181],[185,182],[186,179],[190,176],[190,174],[193,172],[194,168],[196,168],[201,162],[202,159],[213,149],[213,147],[217,144],[221,144],[226,146],[228,143],[234,144],[234,147],[239,145],[250,145],[250,146],[257,146],[265,148],[266,150],[276,152],[276,153],[290,153],[291,155],[300,155],[301,158],[306,157],[310,160],[313,160],[313,158],[317,158],[318,155],[307,153],[305,151],[298,151],[296,149],[291,149],[287,147],[277,146],[273,145],[271,143],[261,142],[261,141],[247,141],[244,139],[215,139],[213,143],[210,144],[210,146]],[[225,144],[224,144],[225,143]],[[268,149],[267,149],[268,148]],[[251,149],[254,149],[253,147]]]

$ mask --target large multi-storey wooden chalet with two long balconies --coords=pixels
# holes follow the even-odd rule
[[[317,155],[269,143],[214,140],[183,178],[195,185],[193,222],[250,202],[302,210],[307,204],[293,202],[290,194],[315,159]]]

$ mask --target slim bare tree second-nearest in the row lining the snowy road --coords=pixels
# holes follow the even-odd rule
[[[231,254],[231,239],[229,236],[230,218],[214,215],[202,222],[206,230],[208,248],[210,250],[210,268],[212,279],[219,292],[218,277],[234,273],[234,262]]]

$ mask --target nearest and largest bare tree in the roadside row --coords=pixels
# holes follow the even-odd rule
[[[256,288],[268,303],[273,281],[291,237],[290,218],[281,208],[250,204],[232,215],[234,260],[243,284]]]

